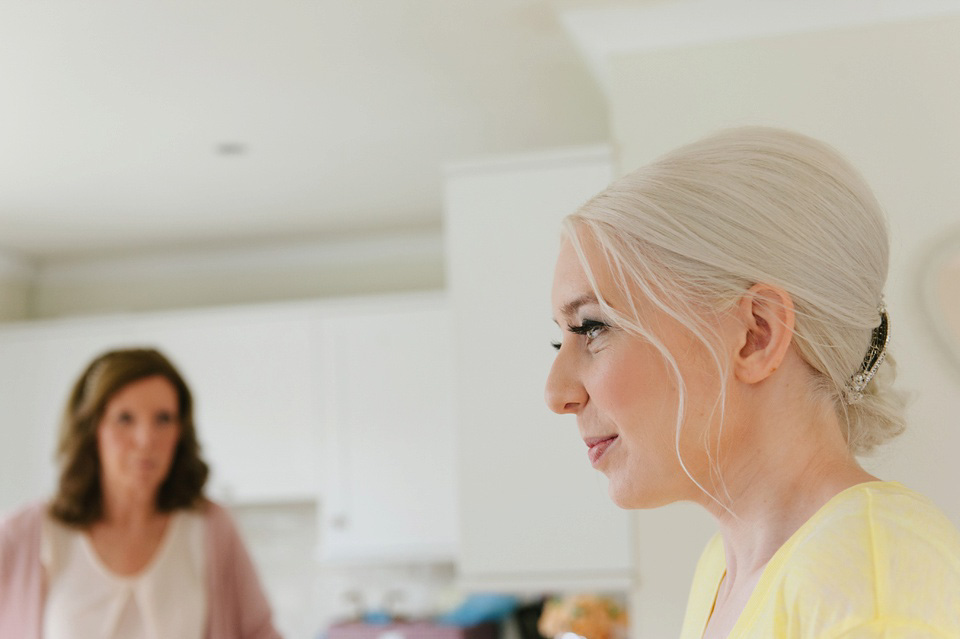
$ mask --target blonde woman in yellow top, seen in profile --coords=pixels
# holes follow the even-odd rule
[[[904,428],[888,239],[834,150],[723,132],[565,221],[546,398],[624,508],[719,533],[683,639],[960,637],[960,533],[856,455]]]

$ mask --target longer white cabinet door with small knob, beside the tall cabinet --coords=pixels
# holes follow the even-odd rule
[[[435,295],[385,304],[324,318],[320,555],[329,562],[451,561],[450,315]]]

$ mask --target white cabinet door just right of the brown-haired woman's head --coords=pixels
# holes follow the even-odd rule
[[[153,314],[136,331],[170,357],[193,391],[211,497],[316,498],[320,356],[309,307]]]

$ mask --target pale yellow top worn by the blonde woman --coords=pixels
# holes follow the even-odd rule
[[[700,639],[726,571],[700,558],[681,639]],[[774,553],[729,639],[960,637],[960,532],[897,482],[852,486]]]

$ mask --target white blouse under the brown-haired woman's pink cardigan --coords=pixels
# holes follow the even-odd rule
[[[116,575],[89,536],[49,516],[41,532],[47,573],[44,639],[201,639],[207,613],[203,516],[177,511],[136,575]]]

